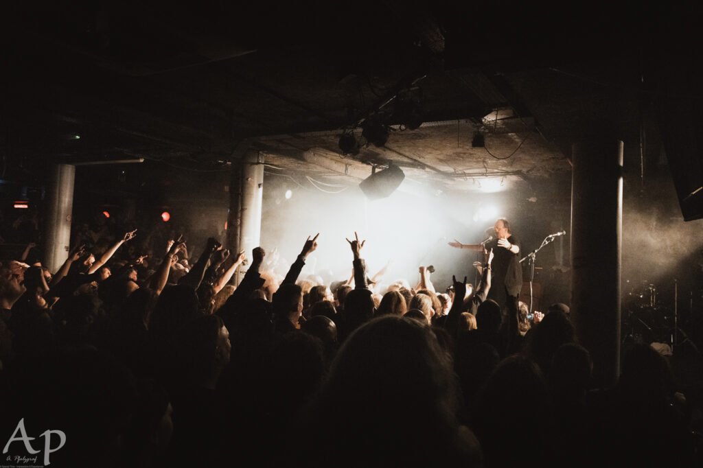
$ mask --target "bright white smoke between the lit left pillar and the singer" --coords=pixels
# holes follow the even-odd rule
[[[467,197],[440,196],[412,181],[404,181],[389,197],[373,201],[356,186],[337,194],[297,187],[286,199],[289,186],[273,185],[276,179],[270,182],[269,190],[264,190],[261,243],[266,252],[276,248],[280,254],[276,273],[285,275],[307,236],[320,233],[318,248],[308,257],[301,279],[310,274],[321,275],[325,281],[348,279],[352,250],[346,239],[354,240],[356,232],[359,240],[366,240],[361,256],[369,277],[388,265],[382,285],[405,279],[415,286],[418,267],[433,265],[434,286],[444,291],[452,275],[466,275],[473,281],[476,260],[474,252],[453,249],[447,242],[455,238],[463,243],[480,242],[486,227],[494,222],[473,221],[479,202],[487,199],[468,202]]]

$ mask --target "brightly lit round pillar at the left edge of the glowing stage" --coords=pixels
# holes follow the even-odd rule
[[[228,245],[233,252],[244,250],[247,259],[251,259],[252,249],[259,247],[261,241],[264,156],[256,150],[247,150],[233,166],[227,221]],[[235,273],[233,280],[236,285],[245,272],[246,266]]]

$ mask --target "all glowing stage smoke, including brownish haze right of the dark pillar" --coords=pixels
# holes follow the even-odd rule
[[[560,197],[548,198],[552,201],[547,204],[520,204],[515,192],[451,195],[406,178],[389,197],[369,201],[357,186],[334,194],[281,180],[286,179],[266,178],[261,240],[269,254],[275,249],[280,256],[277,273],[281,277],[307,236],[320,233],[318,249],[309,256],[300,278],[315,274],[325,282],[348,279],[352,252],[345,238],[353,239],[356,231],[360,240],[366,240],[361,256],[369,276],[391,261],[382,284],[406,279],[414,286],[418,267],[433,265],[432,280],[439,291],[451,285],[452,275],[467,276],[470,282],[477,279],[472,264],[478,255],[453,249],[447,242],[480,242],[496,216],[507,215],[516,226],[523,252],[538,247],[544,235],[568,227],[568,202],[565,206],[553,202]],[[626,190],[621,249],[624,296],[650,284],[671,289],[674,279],[683,285],[703,260],[703,220],[683,221],[670,179],[649,184],[646,191]],[[287,190],[292,191],[290,199],[285,198]],[[564,222],[555,223],[555,219]],[[538,266],[562,264],[560,242],[564,238],[541,252]],[[568,264],[568,244],[561,247]],[[543,271],[548,287],[548,270]]]

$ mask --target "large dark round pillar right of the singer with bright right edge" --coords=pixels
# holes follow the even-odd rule
[[[600,386],[620,373],[623,143],[572,146],[572,320]]]

